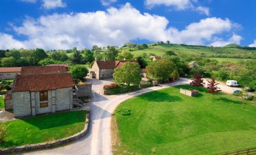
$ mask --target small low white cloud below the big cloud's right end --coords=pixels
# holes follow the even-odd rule
[[[227,41],[224,41],[222,38],[217,38],[218,41],[212,42],[210,45],[214,47],[223,47],[230,43],[240,45],[240,41],[243,39],[242,36],[233,34]]]

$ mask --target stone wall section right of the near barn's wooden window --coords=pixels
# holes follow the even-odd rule
[[[73,108],[72,87],[59,88],[55,91],[56,112]]]

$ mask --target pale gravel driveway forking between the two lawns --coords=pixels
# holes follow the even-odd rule
[[[24,154],[112,154],[110,122],[111,115],[118,104],[126,99],[141,95],[143,93],[160,90],[162,88],[174,85],[189,84],[190,80],[186,78],[180,78],[180,80],[177,80],[174,83],[162,84],[156,87],[145,88],[136,92],[111,96],[102,96],[98,94],[102,88],[102,85],[111,83],[111,80],[98,81],[88,79],[88,82],[93,82],[93,91],[96,93],[93,93],[92,104],[90,105],[91,112],[89,131],[86,136],[65,146],[33,151]],[[221,87],[225,87],[225,85],[221,84]],[[229,93],[229,91],[227,91],[227,93]]]

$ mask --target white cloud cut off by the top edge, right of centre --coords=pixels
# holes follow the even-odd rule
[[[144,4],[148,8],[165,5],[175,7],[177,10],[184,10],[193,6],[190,0],[145,0]]]

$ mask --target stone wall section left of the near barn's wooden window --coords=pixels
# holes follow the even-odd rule
[[[32,115],[29,92],[13,92],[12,104],[14,117],[26,117]]]

